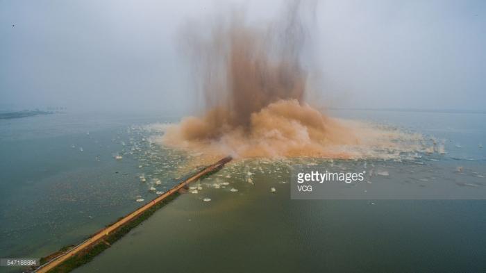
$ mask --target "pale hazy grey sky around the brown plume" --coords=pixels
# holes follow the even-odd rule
[[[259,22],[283,3],[231,2]],[[178,31],[219,6],[0,0],[0,106],[187,113]],[[319,1],[316,15],[327,106],[486,110],[486,1]]]

